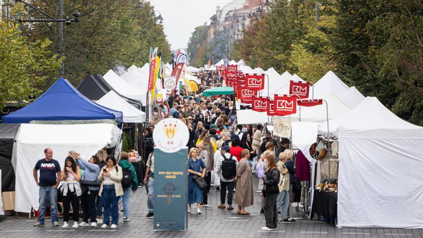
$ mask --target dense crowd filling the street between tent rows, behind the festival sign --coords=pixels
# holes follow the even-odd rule
[[[278,222],[291,223],[289,203],[295,169],[293,152],[287,138],[269,137],[262,125],[238,125],[234,102],[228,95],[203,97],[210,87],[221,86],[221,78],[212,72],[197,75],[201,80],[199,90],[170,96],[155,108],[153,120],[145,130],[145,151],[148,155],[147,171],[154,164],[154,141],[151,137],[155,125],[163,118],[174,117],[183,121],[189,129],[188,172],[189,213],[201,214],[200,207],[208,206],[210,187],[220,191],[218,209],[234,210],[236,214],[249,215],[246,207],[253,205],[254,192],[260,193],[261,211],[266,219],[263,230],[273,230]],[[259,179],[258,190],[253,189],[253,175]],[[148,174],[144,182],[148,183]],[[198,179],[205,182],[201,188]],[[151,182],[151,183],[154,183]],[[154,216],[153,191],[148,189],[147,217]],[[196,210],[192,210],[195,204]],[[278,220],[278,214],[281,218]]]

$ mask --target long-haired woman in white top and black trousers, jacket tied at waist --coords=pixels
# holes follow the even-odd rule
[[[79,222],[79,196],[81,196],[81,188],[79,187],[79,181],[81,180],[81,171],[79,166],[76,165],[75,160],[68,156],[65,160],[65,166],[61,176],[62,184],[59,186],[62,192],[63,202],[63,226],[62,228],[68,228],[69,221],[69,209],[72,202],[72,215],[73,215],[73,226],[72,228],[78,227]]]

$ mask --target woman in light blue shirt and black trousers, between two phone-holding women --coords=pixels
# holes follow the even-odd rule
[[[84,174],[81,177],[81,184],[86,182],[97,182],[97,176],[100,173],[100,159],[98,156],[92,156],[89,160],[82,160],[79,157],[75,158],[78,166],[84,170]],[[97,186],[88,186],[87,191],[82,191],[81,195],[81,207],[83,219],[79,223],[79,226],[88,226],[88,217],[90,218],[91,226],[97,226],[97,206],[96,198],[99,194],[99,187]],[[103,206],[101,206],[103,207]]]

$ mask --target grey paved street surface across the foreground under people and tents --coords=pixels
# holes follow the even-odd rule
[[[423,237],[423,229],[336,228],[326,222],[303,219],[301,213],[295,212],[295,207],[290,208],[291,216],[297,219],[295,222],[280,224],[275,231],[262,231],[260,228],[265,226],[265,221],[260,214],[258,193],[255,193],[255,204],[246,209],[250,216],[236,215],[235,210],[218,210],[219,195],[215,187],[210,189],[209,206],[201,207],[201,215],[188,215],[187,231],[153,231],[153,219],[145,218],[147,196],[142,187],[131,195],[132,221],[124,223],[123,214],[119,213],[117,229],[101,229],[100,226],[63,229],[62,219],[59,219],[59,227],[53,227],[49,220],[44,227],[33,227],[36,219],[8,217],[0,222],[0,237]],[[70,226],[72,224],[71,220]]]

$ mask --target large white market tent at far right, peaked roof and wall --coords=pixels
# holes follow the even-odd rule
[[[423,228],[423,128],[377,98],[358,107],[338,122],[338,226]]]

